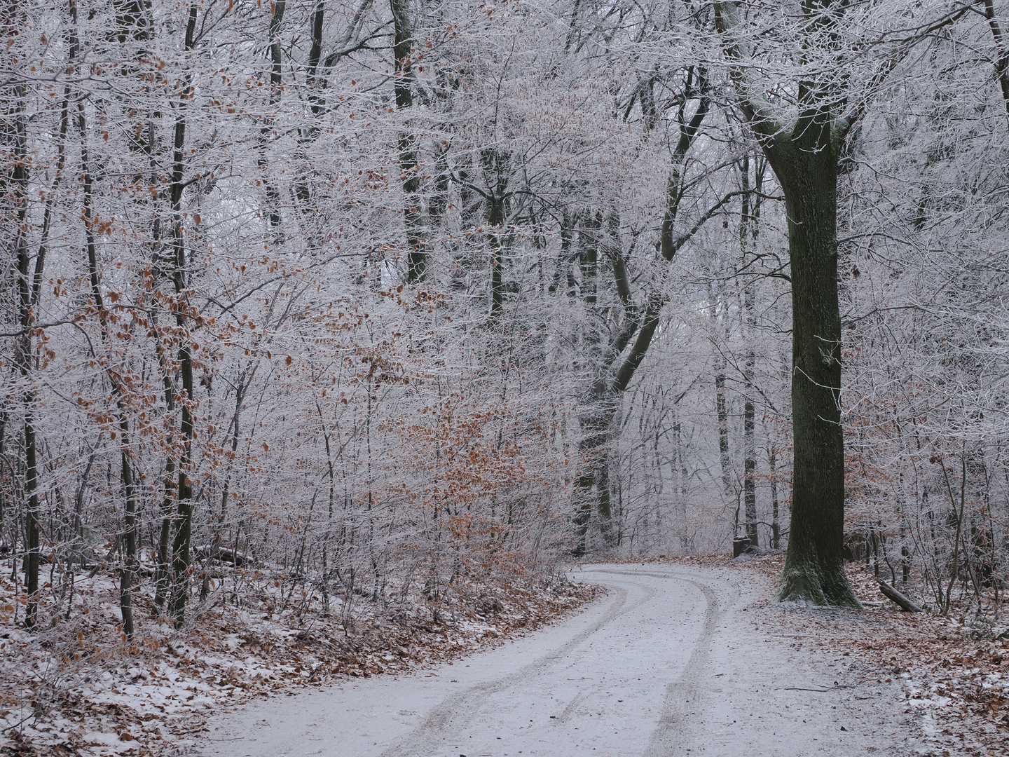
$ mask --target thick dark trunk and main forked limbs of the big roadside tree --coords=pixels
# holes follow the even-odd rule
[[[800,44],[830,38],[845,11],[803,0]],[[825,74],[796,83],[798,116],[781,114],[755,81],[739,6],[715,6],[740,106],[785,196],[792,284],[792,525],[778,599],[858,607],[845,574],[845,439],[840,425],[840,310],[837,300],[837,163],[853,125]],[[813,75],[815,76],[815,75]]]

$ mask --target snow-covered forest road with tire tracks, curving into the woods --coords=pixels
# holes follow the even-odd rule
[[[431,671],[223,715],[198,754],[911,752],[898,684],[867,680],[850,657],[811,657],[780,623],[789,610],[768,606],[739,571],[595,565],[575,577],[605,584],[608,594],[562,623]]]

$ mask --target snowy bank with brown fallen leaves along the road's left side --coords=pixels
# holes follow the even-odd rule
[[[0,564],[0,570],[4,566]],[[73,627],[28,633],[0,577],[0,754],[157,755],[199,739],[210,714],[345,678],[428,668],[539,628],[597,596],[563,578],[459,586],[452,602],[355,598],[352,622],[260,605],[204,607],[127,645],[114,576],[78,581]],[[138,598],[139,599],[139,598]],[[141,603],[140,612],[149,612]],[[81,607],[83,606],[83,608]]]

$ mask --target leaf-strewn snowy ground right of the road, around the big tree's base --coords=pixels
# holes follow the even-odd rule
[[[726,580],[734,574],[744,579],[754,592],[747,609],[756,634],[751,646],[785,644],[794,650],[794,664],[821,666],[826,684],[800,688],[835,689],[865,705],[865,713],[885,714],[878,730],[891,739],[907,737],[915,754],[1009,755],[1009,633],[1004,625],[981,626],[957,613],[948,618],[903,613],[880,592],[872,573],[855,563],[847,569],[862,611],[781,605],[771,597],[782,562],[780,555],[743,560],[713,555],[648,564],[695,565]],[[741,643],[747,627],[740,625]],[[742,647],[737,652],[746,657]],[[829,671],[837,673],[839,683]],[[822,704],[836,702],[823,698]],[[859,716],[861,711],[855,708]],[[889,730],[887,723],[893,726]],[[866,749],[886,752],[878,743]]]

